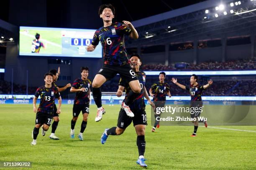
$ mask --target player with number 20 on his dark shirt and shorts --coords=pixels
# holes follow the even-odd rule
[[[73,105],[73,118],[71,120],[71,132],[70,138],[74,139],[74,127],[77,122],[77,118],[82,111],[83,121],[81,124],[81,130],[78,135],[79,140],[83,140],[83,133],[87,126],[87,119],[89,115],[89,103],[90,103],[90,87],[92,82],[88,79],[89,68],[81,67],[81,78],[74,80],[70,92],[76,92]]]

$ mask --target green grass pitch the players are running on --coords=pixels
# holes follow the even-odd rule
[[[106,114],[95,122],[96,106],[90,106],[84,141],[79,141],[82,115],[75,127],[75,138],[70,139],[72,105],[62,105],[56,135],[60,140],[41,136],[31,146],[35,113],[32,105],[0,105],[0,162],[32,162],[36,170],[136,170],[138,150],[136,132],[131,124],[123,135],[110,136],[105,143],[100,137],[105,128],[116,126],[120,105],[104,106]],[[146,109],[150,123],[150,107]],[[193,126],[160,126],[151,133],[146,127],[145,158],[148,169],[240,170],[256,169],[256,133],[199,127],[195,138],[190,137]],[[224,127],[256,131],[255,126]],[[5,168],[0,168],[5,169]]]

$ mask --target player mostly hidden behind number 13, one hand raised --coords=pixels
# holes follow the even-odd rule
[[[56,85],[56,81],[58,80],[59,75],[60,75],[60,67],[58,68],[58,72],[55,69],[54,70],[50,70],[49,72],[53,75],[52,86],[56,87],[59,92],[62,92],[64,90],[66,90],[67,88],[71,87],[70,83],[68,83],[66,86],[61,87],[61,88]],[[58,124],[59,124],[59,114],[60,113],[58,114],[56,111],[57,111],[57,107],[54,104],[54,115],[53,115],[54,122],[52,123],[51,135],[49,136],[49,138],[53,139],[53,140],[59,140],[59,138],[55,135],[55,131],[56,131],[56,129],[58,127]]]

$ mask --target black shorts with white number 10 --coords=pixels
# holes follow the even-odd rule
[[[128,117],[126,115],[126,112],[121,109],[118,115],[117,127],[121,129],[126,129],[129,125],[131,125],[131,122],[133,122],[133,126],[148,125],[145,110],[133,110],[133,113],[134,117]]]

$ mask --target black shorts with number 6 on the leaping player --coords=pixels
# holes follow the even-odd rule
[[[104,65],[97,74],[103,75],[107,80],[119,74],[124,82],[138,80],[130,65]]]

